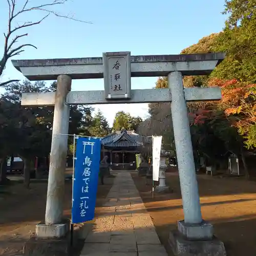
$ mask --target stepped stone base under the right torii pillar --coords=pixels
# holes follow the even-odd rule
[[[176,256],[226,256],[223,242],[213,235],[210,223],[189,225],[178,222],[178,230],[169,234],[169,245]]]

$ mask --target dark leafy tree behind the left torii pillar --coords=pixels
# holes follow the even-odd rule
[[[9,141],[0,150],[0,159],[18,154],[24,161],[24,182],[29,187],[35,157],[48,157],[50,154],[54,107],[21,106],[22,93],[55,91],[56,82],[50,87],[42,81],[11,82],[5,85],[5,89],[6,93],[1,98],[3,104],[0,105],[0,130],[2,128],[3,131],[0,142]],[[71,105],[69,133],[90,135],[91,112],[92,108],[88,106]],[[73,143],[71,136],[69,143]]]

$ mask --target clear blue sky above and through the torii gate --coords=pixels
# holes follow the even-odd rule
[[[51,0],[49,0],[51,2]],[[30,0],[33,3],[49,3],[47,0]],[[25,0],[18,0],[24,3]],[[132,55],[179,54],[182,49],[195,44],[224,27],[224,0],[71,0],[54,10],[93,24],[49,16],[40,25],[24,29],[28,36],[19,44],[29,43],[37,47],[15,59],[101,57],[102,52],[131,51]],[[2,54],[8,17],[7,1],[0,8],[0,52]],[[36,21],[44,13],[35,11],[19,16],[17,22]],[[15,25],[15,24],[14,24]],[[2,39],[1,39],[2,38]],[[2,42],[2,43],[1,43]],[[24,79],[10,61],[2,80]],[[155,86],[157,77],[132,78],[132,89]],[[3,89],[1,89],[3,91]],[[73,91],[103,90],[103,79],[73,80]],[[147,104],[94,105],[112,124],[119,110],[132,116],[147,117]]]

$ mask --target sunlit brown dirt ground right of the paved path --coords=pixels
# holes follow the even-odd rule
[[[145,185],[145,178],[132,174],[135,184],[151,215],[161,242],[169,256],[169,231],[184,219],[178,173],[166,173],[174,193],[156,195]],[[256,255],[256,183],[242,177],[198,175],[203,219],[214,224],[215,235],[224,242],[227,256]]]

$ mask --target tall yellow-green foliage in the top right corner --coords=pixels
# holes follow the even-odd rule
[[[255,6],[255,0],[226,0],[224,13],[228,13],[229,17],[213,49],[226,52],[227,58],[211,76],[256,82]]]

